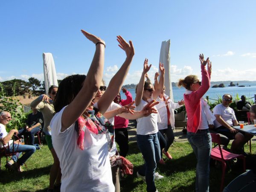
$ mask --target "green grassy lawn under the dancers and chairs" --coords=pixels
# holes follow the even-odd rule
[[[143,164],[143,158],[137,148],[136,142],[129,143],[129,153],[127,158],[134,164],[134,174],[125,177],[121,181],[122,192],[146,191],[146,184],[137,178],[136,173]],[[249,147],[245,145],[245,151]],[[252,144],[252,151],[255,154],[256,144]],[[157,165],[157,172],[164,176],[157,180],[156,186],[160,192],[193,192],[195,191],[195,155],[189,143],[174,143],[169,149],[173,160],[164,159],[166,165]],[[247,169],[255,170],[255,155],[250,155],[246,159]],[[47,145],[42,145],[41,149],[26,162],[27,168],[23,166],[24,172],[17,174],[8,172],[5,165],[5,158],[1,159],[0,191],[1,192],[43,192],[47,190],[49,184],[49,170],[52,165],[52,155]],[[254,166],[254,167],[253,167]],[[242,164],[236,163],[228,170],[225,177],[225,185],[230,183],[235,177],[242,173]],[[218,192],[221,183],[221,168],[217,169],[211,165],[210,191]]]

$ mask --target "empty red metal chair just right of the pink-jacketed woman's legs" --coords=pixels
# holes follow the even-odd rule
[[[244,166],[244,172],[245,172],[245,158],[244,155],[238,155],[238,154],[233,154],[230,153],[229,151],[224,150],[221,148],[221,139],[218,134],[213,134],[211,133],[212,136],[212,143],[218,143],[218,146],[215,148],[212,148],[211,151],[211,158],[221,161],[222,163],[222,177],[221,177],[221,189],[220,191],[222,192],[223,187],[224,187],[224,178],[225,178],[225,171],[226,171],[226,161],[232,160],[234,158],[240,158],[243,160],[243,166]]]

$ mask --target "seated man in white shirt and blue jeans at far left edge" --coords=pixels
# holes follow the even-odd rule
[[[17,134],[18,131],[16,129],[12,129],[9,133],[7,133],[5,126],[9,123],[10,120],[12,120],[11,113],[7,111],[2,111],[0,113],[0,148],[6,147],[9,143],[10,147],[8,152],[12,152],[14,145],[14,151],[19,153],[12,156],[12,159],[6,163],[6,168],[13,169],[17,172],[22,172],[23,169],[21,166],[26,162],[26,160],[28,160],[28,158],[35,152],[36,149],[35,146],[32,145],[17,145],[16,143],[12,142],[12,136]],[[25,153],[18,159],[22,152]]]

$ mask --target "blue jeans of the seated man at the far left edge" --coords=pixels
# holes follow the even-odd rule
[[[14,161],[14,162],[17,162],[17,163],[19,163],[20,165],[23,165],[25,162],[26,162],[26,160],[28,160],[28,158],[33,154],[33,153],[35,153],[35,150],[36,150],[36,148],[35,148],[35,146],[34,145],[21,145],[21,144],[19,144],[19,145],[17,145],[17,144],[12,144],[12,145],[14,145],[14,151],[17,151],[17,154],[16,155],[13,155],[12,156],[12,160]],[[9,149],[9,152],[12,152],[13,150],[12,150],[12,145],[10,145],[10,149]],[[22,154],[22,152],[25,152],[23,155],[22,155],[22,157],[20,157],[19,159],[18,159],[18,157]],[[18,160],[17,160],[18,159]]]

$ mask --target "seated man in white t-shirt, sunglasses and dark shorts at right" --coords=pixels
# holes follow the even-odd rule
[[[216,105],[213,108],[213,114],[216,119],[214,121],[215,129],[217,133],[223,134],[230,140],[234,140],[231,145],[231,151],[236,154],[243,154],[242,147],[253,136],[247,133],[238,132],[232,126],[237,126],[239,123],[236,120],[235,112],[229,107],[232,102],[232,96],[225,94],[222,96],[222,104]]]

